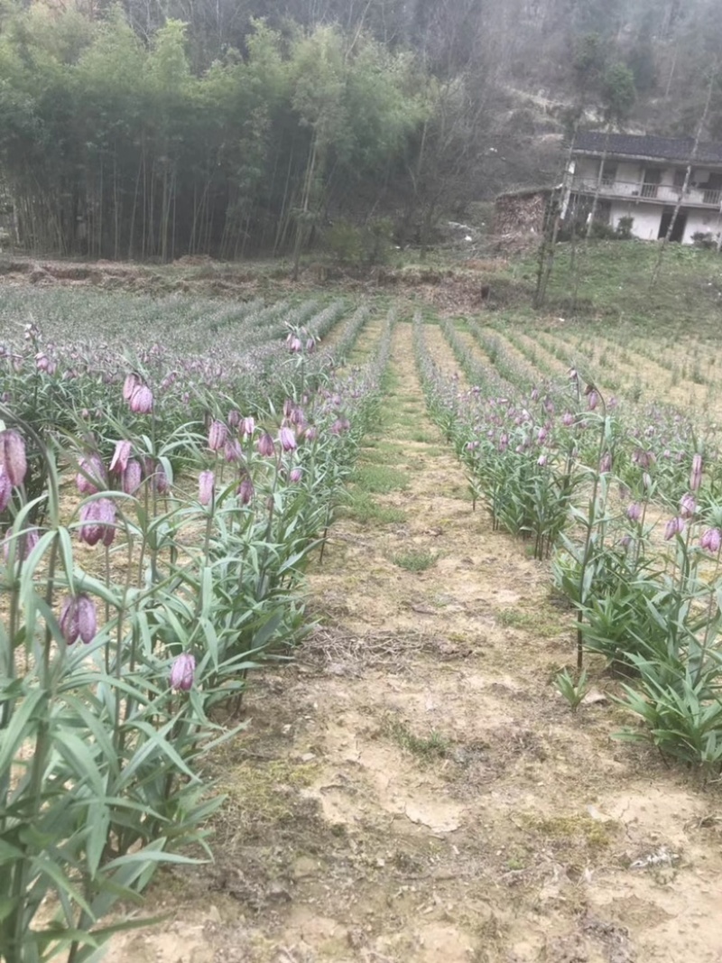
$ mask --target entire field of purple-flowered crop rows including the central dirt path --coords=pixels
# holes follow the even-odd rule
[[[0,959],[718,960],[722,267],[656,257],[0,284]]]

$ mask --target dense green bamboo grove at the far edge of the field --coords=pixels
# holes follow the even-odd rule
[[[334,195],[371,208],[411,168],[436,91],[412,55],[332,26],[254,21],[194,71],[178,20],[144,40],[119,9],[0,13],[0,202],[35,251],[297,250]]]

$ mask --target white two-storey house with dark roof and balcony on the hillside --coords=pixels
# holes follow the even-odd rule
[[[687,168],[691,168],[684,190]],[[601,173],[601,185],[600,185]],[[722,143],[640,134],[579,133],[572,148],[565,207],[590,208],[600,185],[596,219],[618,227],[632,218],[632,236],[691,244],[695,234],[719,241],[722,232]]]

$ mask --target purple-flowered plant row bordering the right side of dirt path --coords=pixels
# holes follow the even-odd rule
[[[647,729],[630,738],[721,768],[722,505],[709,443],[690,432],[684,444],[695,438],[697,450],[681,448],[670,473],[655,432],[632,432],[623,406],[576,371],[520,395],[472,359],[464,370],[482,384],[464,388],[436,368],[421,324],[416,351],[473,498],[495,525],[531,535],[534,555],[553,553],[556,586],[578,617],[579,669],[590,650],[635,677],[624,702]]]

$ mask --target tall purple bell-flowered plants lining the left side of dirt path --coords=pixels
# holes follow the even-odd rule
[[[367,317],[349,316],[345,350]],[[138,355],[122,378],[64,378],[58,352],[36,366],[29,399],[19,359],[0,405],[7,963],[90,959],[117,900],[137,899],[162,862],[190,862],[188,844],[210,852],[220,799],[204,758],[243,729],[248,673],[302,634],[300,578],[376,403],[378,358],[333,377],[313,327],[288,331],[287,396],[247,408],[244,379],[236,392],[206,373],[186,404],[189,382],[164,388]],[[58,377],[67,406],[54,424]]]

